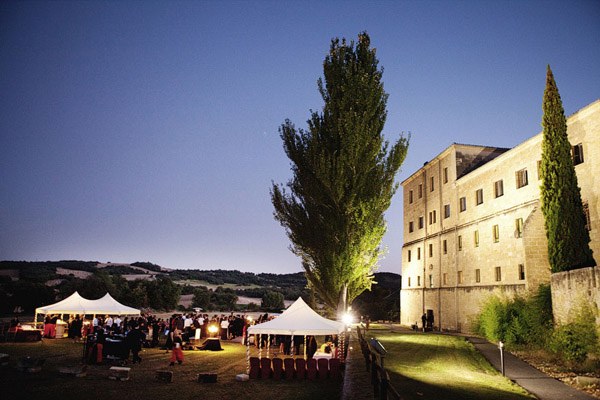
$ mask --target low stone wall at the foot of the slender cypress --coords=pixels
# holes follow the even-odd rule
[[[600,268],[581,268],[552,274],[552,311],[558,324],[572,322],[582,305],[596,313],[600,327]]]

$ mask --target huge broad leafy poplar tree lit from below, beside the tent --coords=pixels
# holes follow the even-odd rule
[[[333,39],[317,82],[322,112],[311,111],[308,130],[289,120],[279,129],[293,178],[273,184],[274,216],[309,286],[338,313],[373,283],[383,214],[408,150],[408,138],[390,146],[382,136],[388,95],[378,64],[366,32],[356,46]]]

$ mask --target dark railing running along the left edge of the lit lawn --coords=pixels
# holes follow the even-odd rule
[[[366,329],[356,327],[358,342],[361,352],[365,357],[367,371],[371,373],[371,384],[375,398],[380,400],[402,400],[402,397],[390,383],[390,375],[384,368],[384,359],[387,351],[381,343],[374,338],[366,339]]]

